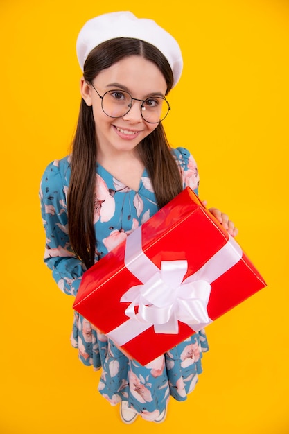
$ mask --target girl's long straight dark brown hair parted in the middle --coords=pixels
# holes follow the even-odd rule
[[[173,73],[168,61],[155,46],[137,39],[120,37],[98,45],[89,53],[85,61],[83,73],[85,80],[91,83],[100,71],[129,55],[141,55],[157,64],[166,80],[168,86],[166,94],[168,94],[173,86]],[[141,141],[138,151],[150,175],[157,204],[161,208],[182,191],[179,169],[161,123]],[[92,107],[87,106],[82,99],[72,144],[67,209],[72,248],[87,268],[94,264],[96,253],[94,229],[96,159],[96,134]]]

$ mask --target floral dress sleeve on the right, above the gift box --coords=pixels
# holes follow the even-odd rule
[[[189,186],[196,194],[198,194],[200,176],[193,155],[191,155],[189,150],[186,148],[176,148],[174,153],[175,158],[177,159],[177,165],[179,166],[179,171],[182,174],[184,188]]]

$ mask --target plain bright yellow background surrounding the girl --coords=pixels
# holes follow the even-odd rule
[[[268,287],[207,328],[211,351],[161,425],[125,426],[69,342],[73,302],[42,263],[37,191],[78,115],[75,41],[87,19],[132,10],[173,33],[184,73],[164,122],[198,162]],[[286,434],[289,5],[284,0],[1,0],[1,434]]]

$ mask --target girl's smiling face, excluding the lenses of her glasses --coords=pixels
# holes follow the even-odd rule
[[[119,90],[129,92],[132,98],[140,100],[150,96],[165,96],[167,88],[166,80],[157,66],[138,55],[124,58],[104,69],[94,78],[93,85],[100,96],[109,90]],[[94,87],[84,79],[81,80],[82,98],[87,105],[92,105],[98,153],[106,156],[133,153],[137,144],[155,130],[158,123],[144,121],[141,116],[141,101],[134,100],[132,108],[124,116],[107,116]],[[118,98],[119,96],[121,94],[117,94]]]

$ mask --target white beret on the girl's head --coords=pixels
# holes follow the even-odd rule
[[[177,84],[182,74],[182,52],[175,38],[152,19],[137,18],[132,12],[111,12],[89,19],[80,30],[76,52],[80,68],[90,51],[96,46],[115,37],[132,37],[154,45],[164,54],[173,71]]]

